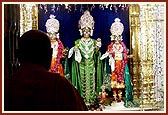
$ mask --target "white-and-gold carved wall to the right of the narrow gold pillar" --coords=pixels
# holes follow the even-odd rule
[[[163,3],[140,5],[141,107],[161,109],[164,97],[164,9]],[[164,9],[164,10],[163,10]],[[163,11],[161,11],[163,10]],[[160,90],[161,89],[161,90]],[[160,100],[162,99],[162,100]],[[158,103],[159,102],[159,103]]]

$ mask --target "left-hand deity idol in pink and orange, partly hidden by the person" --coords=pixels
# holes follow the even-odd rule
[[[64,48],[64,45],[59,39],[59,21],[55,19],[53,14],[50,14],[50,19],[47,20],[45,26],[47,34],[51,39],[51,47],[53,48],[50,72],[59,73],[61,76],[64,76],[64,70],[60,60],[66,57],[67,49]]]

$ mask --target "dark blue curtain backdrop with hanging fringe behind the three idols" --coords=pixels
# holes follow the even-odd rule
[[[110,44],[110,27],[115,18],[120,18],[124,25],[123,41],[127,48],[130,43],[129,11],[125,4],[39,4],[38,5],[38,29],[46,32],[45,23],[50,14],[54,14],[60,23],[60,40],[65,47],[73,47],[74,41],[81,38],[78,21],[85,10],[89,10],[94,18],[95,25],[93,39],[101,38],[102,47],[100,51],[104,53]]]

